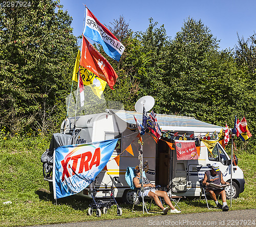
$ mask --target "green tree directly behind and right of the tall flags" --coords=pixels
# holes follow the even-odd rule
[[[117,62],[106,56],[101,48],[101,53],[109,60],[118,74],[118,79],[111,90],[106,86],[104,95],[108,101],[119,101],[124,104],[125,110],[134,110],[134,105],[138,99],[139,90],[141,89],[139,74],[144,71],[147,59],[142,52],[141,42],[136,33],[129,29],[123,16],[114,20],[109,26],[109,30],[125,46],[120,61]],[[109,106],[111,108],[111,106]]]

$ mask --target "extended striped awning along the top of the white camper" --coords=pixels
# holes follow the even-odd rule
[[[142,123],[142,113],[125,110],[109,110],[119,118],[130,124],[135,124],[134,116]],[[223,127],[209,124],[194,117],[183,117],[166,114],[156,114],[157,122],[162,130],[193,131],[193,132],[220,132]]]

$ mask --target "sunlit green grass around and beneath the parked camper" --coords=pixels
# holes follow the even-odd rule
[[[63,222],[78,222],[100,219],[117,219],[161,214],[143,214],[142,206],[122,204],[122,216],[117,216],[116,206],[112,206],[107,214],[96,217],[87,214],[90,201],[78,196],[58,199],[55,204],[49,191],[48,182],[42,180],[42,152],[49,146],[49,141],[24,139],[3,140],[0,142],[0,226],[27,226],[53,224]],[[254,209],[256,199],[256,155],[250,153],[237,154],[238,165],[244,171],[245,191],[240,197],[232,200],[230,210]],[[3,204],[11,201],[11,204]],[[227,202],[230,205],[230,201]],[[215,205],[211,200],[210,204]],[[179,206],[182,213],[208,212],[204,200],[184,198]],[[155,205],[152,211],[160,212]],[[216,210],[219,211],[219,210]],[[169,214],[172,215],[172,214]]]

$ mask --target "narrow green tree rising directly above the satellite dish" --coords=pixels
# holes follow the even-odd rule
[[[165,74],[168,64],[169,37],[166,35],[164,25],[157,27],[158,23],[152,18],[149,19],[150,25],[143,33],[139,33],[139,40],[142,45],[142,53],[146,59],[144,71],[138,75],[141,90],[140,96],[152,95],[155,98],[155,112],[163,113],[165,106]]]

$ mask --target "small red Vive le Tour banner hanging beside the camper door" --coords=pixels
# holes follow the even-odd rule
[[[198,159],[195,140],[174,140],[177,152],[177,160]]]

